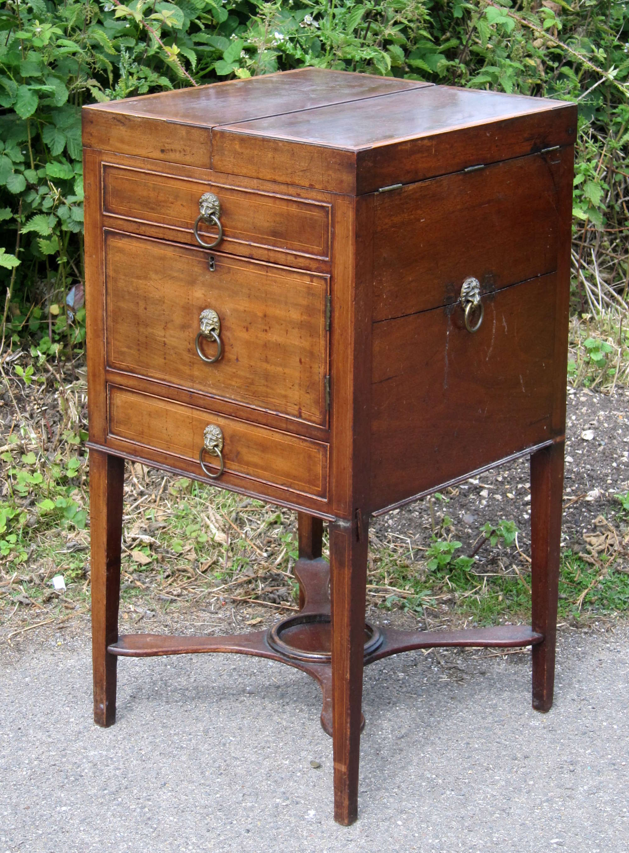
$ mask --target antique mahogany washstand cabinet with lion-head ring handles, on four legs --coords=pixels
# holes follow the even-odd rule
[[[321,684],[350,823],[364,664],[532,645],[551,706],[575,108],[309,68],[83,116],[95,721],[121,655],[282,660]],[[523,454],[531,626],[366,625],[370,516]],[[124,458],[295,508],[299,614],[119,636]]]

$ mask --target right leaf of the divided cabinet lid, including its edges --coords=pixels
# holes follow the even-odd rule
[[[217,127],[212,168],[366,194],[496,163],[576,135],[576,107],[432,86]]]

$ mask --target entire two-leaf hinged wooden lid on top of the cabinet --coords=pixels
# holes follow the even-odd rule
[[[576,108],[318,68],[84,107],[84,145],[362,194],[574,142]]]

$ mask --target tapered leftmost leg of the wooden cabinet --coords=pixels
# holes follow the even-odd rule
[[[124,459],[89,450],[91,540],[92,668],[94,722],[116,722],[116,658],[107,646],[118,641],[120,549]]]

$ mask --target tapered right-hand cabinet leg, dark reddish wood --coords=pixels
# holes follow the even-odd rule
[[[563,442],[531,456],[531,625],[544,635],[533,647],[533,707],[550,711],[555,683]]]

